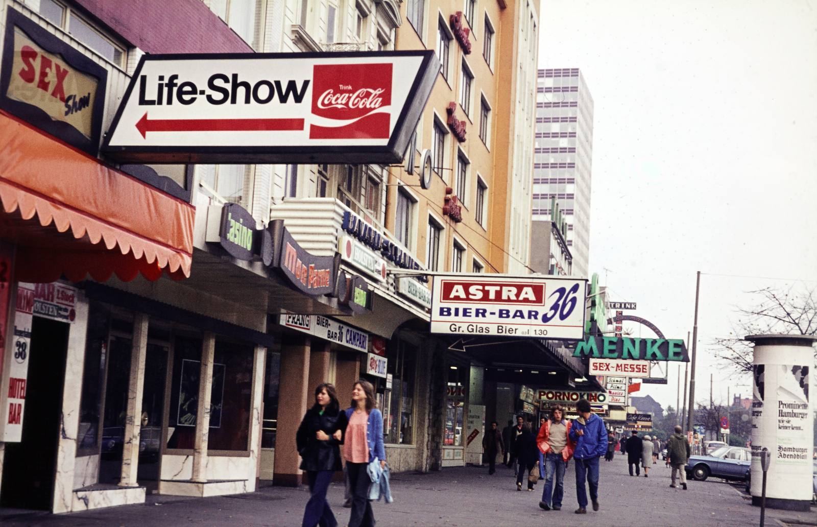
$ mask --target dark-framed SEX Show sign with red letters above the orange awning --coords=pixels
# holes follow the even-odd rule
[[[0,108],[96,155],[107,78],[105,68],[8,8]]]

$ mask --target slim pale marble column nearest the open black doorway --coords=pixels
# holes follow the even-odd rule
[[[136,487],[139,470],[139,436],[142,428],[142,390],[145,387],[145,355],[148,349],[148,315],[133,315],[133,347],[131,351],[131,378],[127,388],[127,417],[125,418],[122,449],[122,479],[119,485]]]

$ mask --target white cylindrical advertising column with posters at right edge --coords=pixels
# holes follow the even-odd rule
[[[809,511],[814,413],[810,404],[812,342],[806,335],[752,335],[752,505],[761,502],[761,451],[771,461],[766,507]]]

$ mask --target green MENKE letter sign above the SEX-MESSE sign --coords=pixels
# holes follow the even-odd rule
[[[690,361],[686,345],[680,338],[587,337],[586,341],[578,342],[573,356],[600,359]],[[594,373],[594,375],[616,375],[616,373]],[[628,377],[635,376],[629,375]]]

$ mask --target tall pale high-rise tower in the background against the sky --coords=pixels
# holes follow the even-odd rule
[[[593,98],[578,68],[539,69],[536,94],[534,220],[550,220],[556,198],[568,224],[573,274],[587,276]]]

